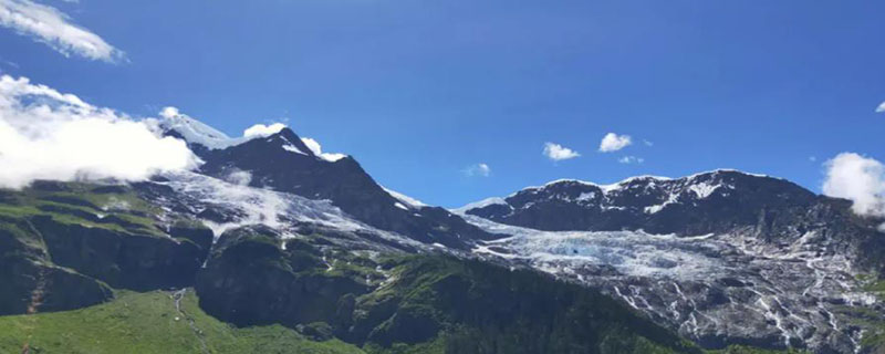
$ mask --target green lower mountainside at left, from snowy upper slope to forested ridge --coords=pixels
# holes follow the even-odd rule
[[[2,352],[700,352],[595,290],[327,201],[198,174],[0,196]]]

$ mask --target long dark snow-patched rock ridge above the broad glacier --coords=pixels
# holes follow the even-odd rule
[[[467,210],[489,220],[539,230],[705,235],[771,222],[816,196],[782,179],[715,171],[679,179],[636,177],[611,186],[563,180],[523,189]]]

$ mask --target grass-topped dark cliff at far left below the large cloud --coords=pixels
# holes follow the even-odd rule
[[[117,289],[188,287],[210,229],[164,214],[125,185],[39,181],[0,191],[0,313],[61,311]]]

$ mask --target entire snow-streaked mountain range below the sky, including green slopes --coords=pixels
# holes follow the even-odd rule
[[[445,210],[289,128],[155,123],[198,169],[0,189],[0,352],[885,347],[882,220],[782,179],[562,180]]]

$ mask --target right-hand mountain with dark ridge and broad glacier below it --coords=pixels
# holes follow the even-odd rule
[[[877,331],[868,313],[881,319],[858,278],[883,274],[883,220],[784,179],[558,180],[456,211],[516,236],[477,253],[605,289],[707,347],[844,353]]]

